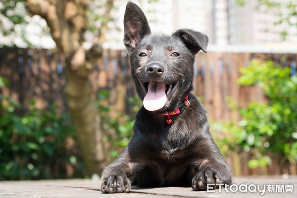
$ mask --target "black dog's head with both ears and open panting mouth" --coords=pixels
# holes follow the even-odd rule
[[[137,93],[149,111],[172,111],[192,90],[195,54],[206,52],[208,38],[190,29],[151,35],[148,20],[133,2],[124,16],[124,44]]]

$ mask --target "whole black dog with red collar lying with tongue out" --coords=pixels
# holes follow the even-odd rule
[[[206,184],[232,183],[232,172],[209,134],[206,111],[190,93],[194,56],[206,52],[208,38],[181,29],[151,35],[143,11],[128,2],[124,44],[144,106],[134,136],[103,171],[101,192],[129,193],[140,187],[179,186],[205,190]],[[213,186],[216,187],[215,185]]]

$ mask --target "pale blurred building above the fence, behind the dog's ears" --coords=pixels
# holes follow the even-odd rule
[[[126,0],[127,1],[127,0]],[[126,1],[118,2],[116,23],[122,28]],[[286,0],[278,0],[284,2]],[[146,13],[153,33],[170,34],[191,28],[209,37],[210,45],[258,45],[296,47],[297,27],[277,24],[286,7],[267,9],[257,0],[134,0]],[[286,30],[286,40],[282,31]],[[108,47],[123,48],[122,32],[109,35]]]

